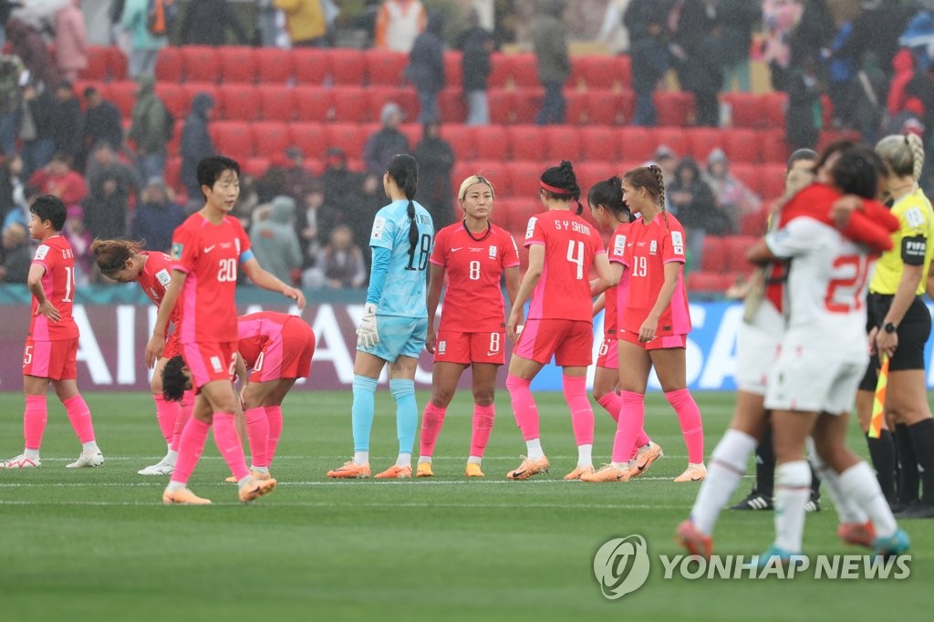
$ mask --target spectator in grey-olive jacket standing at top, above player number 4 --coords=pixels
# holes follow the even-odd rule
[[[564,122],[564,83],[571,77],[568,39],[561,16],[564,0],[539,0],[531,21],[532,48],[538,65],[538,79],[545,88],[542,108],[535,117],[538,125]]]

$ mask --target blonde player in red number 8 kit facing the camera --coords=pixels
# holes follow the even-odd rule
[[[464,218],[439,231],[434,239],[425,342],[425,349],[434,354],[432,399],[421,419],[417,477],[434,474],[434,444],[445,422],[447,405],[467,367],[473,372],[474,433],[464,474],[484,476],[480,462],[493,429],[496,375],[505,362],[500,277],[505,276],[510,300],[515,300],[519,289],[516,240],[489,221],[494,196],[493,185],[485,177],[472,175],[464,179],[458,192]],[[441,326],[435,333],[434,313],[445,276],[445,305]]]

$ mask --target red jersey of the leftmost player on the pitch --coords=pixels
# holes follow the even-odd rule
[[[42,291],[52,306],[62,314],[62,319],[52,322],[37,314],[39,302],[34,296],[29,336],[35,341],[60,341],[78,337],[78,324],[72,317],[75,305],[75,255],[64,235],[52,235],[40,244],[35,249],[33,264],[46,269],[42,275]]]

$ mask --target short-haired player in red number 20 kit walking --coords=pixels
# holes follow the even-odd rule
[[[231,377],[236,363],[237,265],[242,264],[256,285],[282,293],[299,308],[304,307],[304,294],[262,269],[240,221],[230,216],[240,195],[240,165],[230,158],[211,156],[198,163],[197,178],[205,206],[172,235],[172,281],[146,346],[146,364],[152,367],[163,355],[165,327],[181,295],[179,339],[197,397],[192,417],[181,432],[176,468],[163,502],[209,503],[191,492],[187,483],[212,425],[220,455],[237,480],[240,501],[250,502],[276,488],[276,480],[257,480],[249,473],[234,426],[237,399]]]

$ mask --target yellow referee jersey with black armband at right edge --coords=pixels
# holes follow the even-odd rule
[[[870,281],[872,293],[895,294],[905,271],[904,253],[916,252],[917,242],[921,242],[921,238],[925,244],[922,274],[927,276],[927,268],[934,257],[934,210],[925,193],[918,188],[901,197],[892,205],[892,214],[899,219],[899,231],[892,233],[892,248],[886,250],[879,262],[876,262],[875,273]],[[913,242],[913,238],[916,241]],[[926,282],[925,278],[921,279],[914,292],[916,295],[925,292]]]

